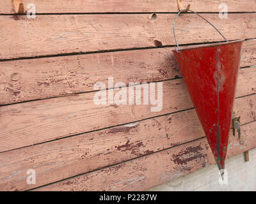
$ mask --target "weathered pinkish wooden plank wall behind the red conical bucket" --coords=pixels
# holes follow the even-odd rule
[[[171,51],[176,1],[22,2],[36,5],[35,19],[0,2],[0,190],[143,190],[214,163]],[[230,136],[228,156],[255,148],[256,3],[184,3],[228,40],[246,39],[234,107],[242,138]],[[177,36],[185,46],[222,40],[193,14],[179,18]],[[93,85],[108,77],[163,82],[162,110],[96,105]]]

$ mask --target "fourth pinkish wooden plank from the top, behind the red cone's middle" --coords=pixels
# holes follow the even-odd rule
[[[238,80],[236,96],[244,96],[243,91],[246,91],[246,94],[248,91],[250,94],[255,93],[254,79],[252,77],[247,79],[253,82]],[[158,83],[163,83],[163,105],[161,103],[144,105],[143,100],[141,105],[112,105],[108,101],[106,105],[97,105],[93,97],[99,92],[88,92],[0,106],[0,152],[193,108],[182,78],[157,82],[154,86],[158,87]],[[246,88],[241,89],[241,87]],[[156,88],[156,91],[151,91],[150,94],[157,96],[160,89],[160,87]],[[115,89],[113,95],[118,91]],[[132,92],[129,89],[127,92],[128,101]],[[106,94],[108,96],[108,93]],[[158,112],[152,112],[152,108],[156,106],[159,107]]]

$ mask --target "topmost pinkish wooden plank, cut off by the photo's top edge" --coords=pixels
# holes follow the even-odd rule
[[[26,5],[33,3],[36,13],[102,13],[102,12],[177,12],[175,0],[22,0],[25,10]],[[218,12],[219,5],[225,3],[228,11],[256,11],[255,1],[209,1],[209,0],[184,0],[184,5],[191,4],[191,9],[202,12]],[[12,1],[1,0],[0,13],[14,13]]]

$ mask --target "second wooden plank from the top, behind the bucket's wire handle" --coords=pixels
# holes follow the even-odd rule
[[[256,13],[204,13],[228,40],[256,38]],[[35,57],[124,48],[175,45],[171,26],[175,14],[0,16],[0,59]],[[237,23],[239,22],[239,23]],[[176,22],[180,44],[221,41],[223,38],[195,14]],[[188,38],[189,36],[189,38]]]

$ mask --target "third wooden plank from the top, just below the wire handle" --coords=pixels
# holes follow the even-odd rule
[[[93,85],[97,82],[108,84],[109,76],[114,78],[115,83],[124,82],[127,85],[129,82],[156,82],[181,77],[172,49],[129,50],[0,62],[0,104],[93,91]],[[244,41],[240,66],[255,64],[256,40]],[[240,70],[240,75],[246,80],[246,84],[251,81],[256,85],[249,80],[256,77],[256,69]],[[253,85],[241,88],[247,87],[251,88]]]

